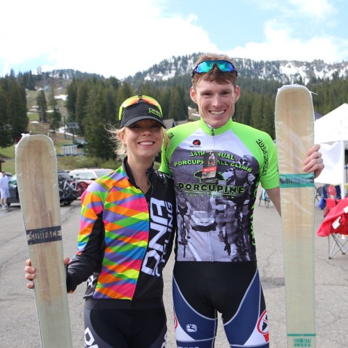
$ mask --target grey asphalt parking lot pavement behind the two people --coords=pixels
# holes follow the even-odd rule
[[[79,229],[80,202],[61,207],[64,253],[74,254]],[[316,228],[322,211],[315,208]],[[285,348],[285,289],[280,217],[273,205],[255,208],[255,238],[258,263],[269,312],[271,347]],[[327,255],[327,238],[315,237],[317,347],[348,347],[348,255]],[[28,258],[22,213],[19,206],[0,211],[0,347],[40,347],[34,293],[26,289],[24,260]],[[171,301],[173,258],[165,272],[165,303],[169,320],[168,348],[175,347]],[[84,347],[84,285],[68,296],[74,348]],[[216,347],[228,347],[219,323]],[[53,347],[54,348],[54,347]],[[141,347],[139,347],[141,348]]]

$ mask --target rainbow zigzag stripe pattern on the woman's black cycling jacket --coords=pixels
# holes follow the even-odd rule
[[[149,238],[149,211],[143,192],[129,182],[120,167],[90,184],[81,204],[77,254],[93,252],[88,250],[88,242],[105,230],[102,271],[93,298],[132,300]]]

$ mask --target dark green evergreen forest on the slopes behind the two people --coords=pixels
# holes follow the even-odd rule
[[[71,72],[70,72],[71,73]],[[65,72],[60,72],[64,78]],[[71,77],[71,74],[70,74]],[[26,93],[35,90],[38,82],[48,79],[47,74],[33,75],[31,72],[17,76],[11,72],[0,78],[0,147],[6,148],[16,143],[22,133],[27,132]],[[191,77],[189,74],[175,76],[166,81],[120,81],[116,77],[104,78],[97,74],[75,72],[66,88],[65,108],[67,120],[63,120],[52,86],[37,99],[40,122],[49,122],[51,129],[58,129],[63,122],[76,122],[79,136],[88,143],[88,155],[111,159],[113,145],[110,143],[108,129],[118,126],[118,109],[123,100],[132,95],[150,95],[161,104],[165,119],[175,122],[189,118],[189,107],[195,108],[189,97]],[[302,84],[299,80],[296,83]],[[236,104],[233,119],[263,130],[274,138],[274,104],[278,88],[277,81],[239,77],[241,97]],[[325,115],[348,102],[348,79],[312,79],[307,85],[313,92],[313,104],[317,113]],[[47,102],[48,100],[48,102]],[[47,104],[53,112],[47,114]],[[49,115],[49,116],[48,116]]]

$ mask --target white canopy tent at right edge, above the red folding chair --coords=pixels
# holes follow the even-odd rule
[[[320,152],[325,168],[315,179],[322,184],[340,185],[345,196],[345,149],[348,148],[348,104],[327,113],[315,121],[315,143],[321,145]]]

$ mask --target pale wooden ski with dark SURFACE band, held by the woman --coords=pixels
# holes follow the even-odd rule
[[[35,302],[42,347],[72,347],[63,264],[56,150],[45,135],[24,135],[15,166],[26,241],[36,268]]]

